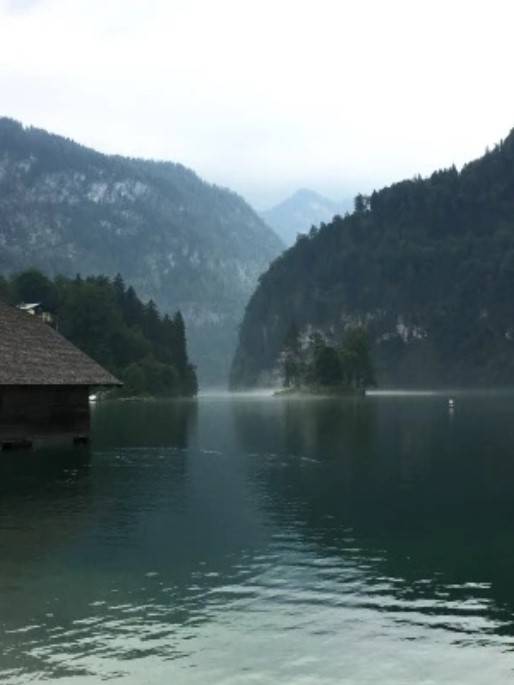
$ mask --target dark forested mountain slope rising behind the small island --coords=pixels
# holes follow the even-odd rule
[[[514,132],[482,158],[358,196],[261,277],[231,383],[269,381],[288,328],[363,324],[382,385],[514,384]]]

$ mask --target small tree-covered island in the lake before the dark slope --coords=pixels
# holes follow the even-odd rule
[[[345,330],[339,345],[330,345],[319,332],[301,335],[293,322],[280,355],[283,395],[364,395],[376,385],[375,370],[364,327]]]

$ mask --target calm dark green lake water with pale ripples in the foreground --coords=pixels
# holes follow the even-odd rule
[[[514,394],[106,402],[0,454],[0,681],[514,681]]]

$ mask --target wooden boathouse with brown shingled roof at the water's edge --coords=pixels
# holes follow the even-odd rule
[[[0,445],[88,439],[91,388],[121,385],[33,314],[0,301]]]

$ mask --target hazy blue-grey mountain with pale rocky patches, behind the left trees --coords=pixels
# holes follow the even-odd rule
[[[237,325],[280,240],[242,198],[179,164],[102,155],[0,119],[0,272],[121,273],[181,309],[205,382],[223,382]]]

